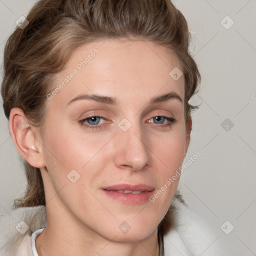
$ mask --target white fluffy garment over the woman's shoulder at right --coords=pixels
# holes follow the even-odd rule
[[[177,193],[173,205],[173,226],[163,237],[164,255],[226,256],[219,243],[219,235],[184,202]]]

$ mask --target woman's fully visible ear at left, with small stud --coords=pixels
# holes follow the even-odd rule
[[[33,130],[32,130],[33,128]],[[20,155],[32,166],[41,168],[45,166],[42,154],[37,149],[38,132],[30,126],[21,108],[13,107],[9,116],[9,130],[15,147]]]

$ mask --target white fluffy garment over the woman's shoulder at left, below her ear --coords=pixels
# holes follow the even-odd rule
[[[0,216],[0,256],[30,256],[31,234],[46,226],[45,206],[11,209]]]

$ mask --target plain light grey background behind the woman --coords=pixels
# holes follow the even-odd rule
[[[1,63],[15,21],[34,2],[0,0]],[[202,75],[200,91],[191,99],[201,106],[192,114],[184,163],[197,150],[201,156],[184,169],[178,187],[216,231],[214,242],[224,242],[232,256],[256,255],[256,0],[173,3],[188,21],[190,50]],[[231,27],[227,15],[234,21]],[[23,194],[26,180],[2,110],[0,124],[0,215],[6,215],[13,198]]]

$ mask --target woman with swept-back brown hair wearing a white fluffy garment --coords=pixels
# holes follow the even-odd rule
[[[221,255],[177,190],[200,81],[168,0],[40,0],[4,51],[24,159],[0,255]]]

